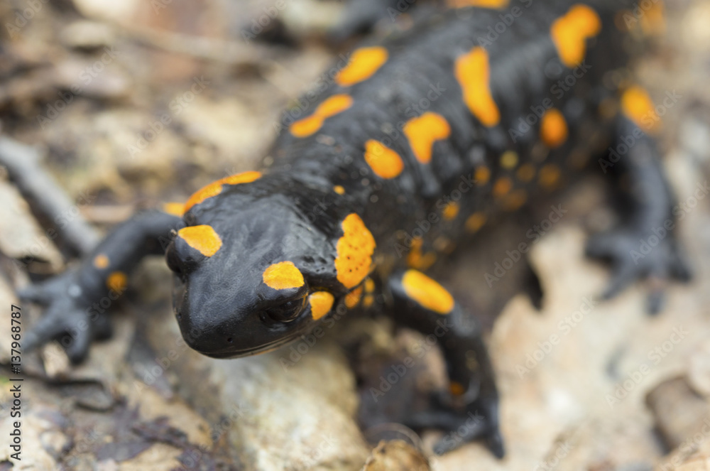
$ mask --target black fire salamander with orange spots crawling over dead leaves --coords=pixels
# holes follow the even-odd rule
[[[672,234],[643,258],[630,256],[673,220],[674,199],[653,140],[654,104],[626,75],[610,74],[627,70],[626,36],[660,27],[661,6],[629,4],[634,21],[624,28],[620,1],[452,3],[417,7],[426,14],[413,26],[356,48],[284,121],[262,170],[217,180],[184,205],[141,212],[77,269],[25,288],[22,298],[48,305],[29,346],[68,333],[67,354],[80,362],[107,333],[92,305],[124,291],[143,256],[165,252],[182,335],[209,357],[273,350],[342,303],[382,310],[427,335],[446,319],[439,345],[449,401],[410,425],[455,430],[476,413],[484,420],[466,439],[502,457],[481,328],[425,271],[496,215],[588,167],[626,183],[620,195],[630,211],[587,246],[611,261],[605,296],[652,278],[655,311],[659,282],[689,277]]]

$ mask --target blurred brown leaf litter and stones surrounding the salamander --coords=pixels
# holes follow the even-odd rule
[[[216,178],[258,168],[283,110],[356,43],[328,39],[344,6],[4,0],[0,153],[36,156],[38,171],[72,202],[67,220],[85,220],[99,234],[142,207],[184,201]],[[681,97],[667,109],[660,141],[682,207],[677,235],[692,260],[692,283],[670,286],[667,308],[655,318],[644,313],[641,284],[613,301],[595,297],[608,271],[584,259],[586,230],[613,215],[594,178],[554,201],[569,217],[532,247],[545,290],[540,310],[519,293],[523,264],[493,288],[484,281],[525,240],[530,220],[484,232],[437,268],[486,326],[505,460],[479,443],[435,457],[441,432],[420,437],[393,423],[444,384],[437,349],[420,335],[393,333],[386,320],[338,319],[317,342],[231,362],[200,357],[180,342],[170,273],[155,258],[131,278],[113,339],[93,347],[86,363],[71,367],[58,345],[23,356],[23,462],[12,467],[0,448],[0,470],[710,469],[710,205],[703,191],[710,1],[667,1],[666,13],[665,35],[630,66],[658,102],[667,92]],[[407,11],[398,23],[385,17],[373,34],[409,21]],[[53,236],[57,222],[33,212],[0,170],[0,306],[9,306],[16,287],[62,271],[77,250]],[[29,325],[41,310],[23,305],[23,313]],[[0,327],[2,364],[7,330]],[[422,351],[415,367],[383,384]],[[0,369],[1,384],[8,375]],[[8,390],[0,389],[3,436]],[[381,442],[393,438],[401,441]]]

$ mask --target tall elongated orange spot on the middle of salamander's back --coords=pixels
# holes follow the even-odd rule
[[[491,95],[491,66],[486,50],[476,46],[469,53],[461,55],[456,60],[454,73],[464,92],[464,102],[471,113],[484,126],[496,126],[501,120],[501,112]]]

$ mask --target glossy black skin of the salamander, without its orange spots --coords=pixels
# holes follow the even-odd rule
[[[528,2],[530,3],[530,2]],[[168,215],[138,215],[119,226],[77,271],[62,275],[40,286],[28,288],[23,298],[45,301],[48,313],[40,320],[30,338],[30,346],[40,345],[72,330],[78,320],[87,318],[86,308],[106,296],[105,276],[92,266],[96,254],[112,254],[114,266],[129,271],[138,260],[158,251],[155,239],[172,240],[167,259],[175,272],[175,314],[185,341],[195,350],[217,358],[243,357],[283,345],[307,332],[320,321],[311,317],[305,297],[312,291],[329,291],[342,303],[349,288],[337,279],[334,260],[337,242],[343,236],[342,221],[356,213],[376,240],[373,256],[374,278],[385,300],[384,310],[398,323],[430,334],[442,318],[449,326],[440,335],[440,345],[447,360],[449,377],[463,386],[463,395],[432,401],[431,411],[413,416],[411,426],[456,430],[472,414],[479,419],[466,430],[464,440],[481,438],[498,457],[504,453],[498,429],[498,392],[488,354],[481,340],[480,328],[469,310],[459,303],[442,316],[408,299],[401,276],[405,269],[411,235],[422,231],[422,251],[432,251],[441,237],[452,241],[470,239],[464,232],[468,215],[483,211],[493,219],[503,212],[491,196],[491,183],[476,184],[474,173],[485,165],[491,170],[491,182],[513,170],[499,165],[504,151],[518,153],[521,165],[540,161],[556,163],[562,169],[563,183],[574,180],[577,168],[567,156],[583,153],[596,163],[596,155],[626,136],[628,119],[602,118],[597,110],[603,99],[618,97],[618,90],[603,87],[602,77],[609,70],[624,67],[627,58],[619,47],[621,38],[613,27],[613,11],[607,4],[595,4],[603,20],[603,30],[587,41],[584,71],[570,70],[557,58],[550,39],[550,24],[569,8],[567,2],[545,4],[511,2],[511,8],[523,9],[523,15],[506,27],[496,40],[485,44],[491,58],[491,90],[501,111],[501,124],[482,126],[461,99],[461,88],[454,77],[454,60],[488,33],[488,26],[501,21],[506,11],[464,9],[430,14],[409,31],[396,33],[383,45],[389,59],[371,78],[351,87],[332,83],[305,98],[308,116],[317,104],[332,94],[347,93],[352,107],[330,117],[316,134],[295,138],[285,129],[275,143],[273,165],[262,178],[252,183],[226,185],[222,193],[192,207],[180,219]],[[613,8],[620,8],[613,2]],[[574,73],[577,72],[577,75]],[[574,86],[561,89],[555,84],[574,75]],[[427,99],[426,102],[422,101]],[[562,111],[569,126],[567,141],[550,150],[538,141],[537,127],[515,136],[520,117],[532,113],[550,99]],[[432,162],[422,165],[415,160],[408,140],[401,132],[407,119],[422,112],[436,112],[449,122],[449,139],[436,141]],[[293,120],[292,120],[293,121]],[[397,178],[383,180],[374,175],[364,161],[364,143],[368,139],[390,138],[388,146],[404,161]],[[595,167],[593,171],[599,172]],[[591,239],[590,256],[613,262],[607,296],[624,286],[651,276],[656,281],[650,296],[650,309],[660,308],[661,290],[669,278],[686,279],[689,272],[679,256],[671,233],[660,245],[635,264],[628,255],[638,247],[639,239],[653,228],[671,219],[673,198],[663,175],[655,144],[648,136],[639,139],[626,158],[616,163],[611,174],[626,174],[631,192],[626,194],[630,217],[624,227]],[[612,182],[616,177],[610,176]],[[336,193],[341,185],[344,194]],[[528,195],[545,193],[539,185],[518,185]],[[459,216],[441,220],[442,201],[459,191],[463,197]],[[528,199],[532,204],[535,200]],[[430,215],[439,215],[430,222]],[[209,224],[224,242],[216,254],[206,257],[184,240],[171,237],[182,227]],[[146,248],[152,244],[152,248]],[[293,261],[302,272],[305,285],[274,290],[264,285],[266,267],[280,261]],[[660,281],[660,283],[658,283]],[[72,298],[69,286],[77,286],[81,296]],[[278,313],[280,318],[274,313]],[[283,315],[288,318],[283,320]],[[75,362],[87,354],[95,327],[81,330],[67,349]],[[100,332],[99,332],[100,333]],[[475,362],[471,362],[471,353]],[[437,452],[453,448],[439,443]]]

